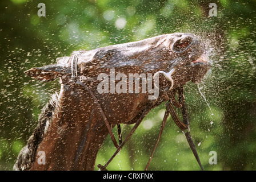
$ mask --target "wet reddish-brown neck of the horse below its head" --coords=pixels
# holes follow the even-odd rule
[[[62,85],[58,106],[37,152],[45,152],[45,164],[38,156],[31,170],[93,170],[99,148],[108,131],[94,101],[85,90],[74,93]]]

